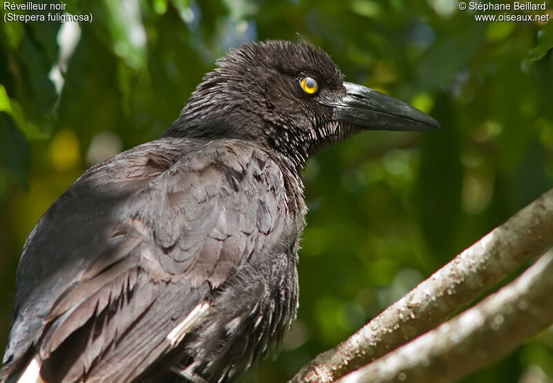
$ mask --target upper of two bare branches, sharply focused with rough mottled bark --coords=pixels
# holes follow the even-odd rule
[[[292,382],[333,382],[449,320],[553,245],[553,189],[482,237],[386,308],[348,340],[321,353]]]

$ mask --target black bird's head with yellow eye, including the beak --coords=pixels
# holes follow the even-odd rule
[[[308,43],[245,43],[217,61],[166,135],[252,141],[301,166],[326,144],[361,130],[432,130],[403,101],[344,81]]]

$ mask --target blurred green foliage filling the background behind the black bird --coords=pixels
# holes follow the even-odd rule
[[[547,4],[552,12],[552,4]],[[0,26],[0,344],[21,247],[88,166],[162,135],[242,41],[306,40],[440,132],[367,132],[311,159],[299,320],[282,382],[553,186],[553,24],[476,22],[453,0],[97,0],[92,23]],[[553,330],[467,382],[553,377]]]

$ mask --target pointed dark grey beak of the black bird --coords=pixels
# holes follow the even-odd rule
[[[357,84],[344,82],[346,95],[332,106],[338,121],[366,130],[435,130],[441,126],[432,117],[403,101]]]

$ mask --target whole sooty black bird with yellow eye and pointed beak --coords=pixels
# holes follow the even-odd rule
[[[234,380],[297,315],[308,158],[438,128],[310,43],[232,48],[162,137],[86,170],[32,229],[0,382]]]

